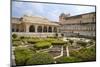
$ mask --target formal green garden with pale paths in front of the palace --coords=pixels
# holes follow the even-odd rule
[[[75,63],[96,60],[95,40],[12,35],[16,66]]]

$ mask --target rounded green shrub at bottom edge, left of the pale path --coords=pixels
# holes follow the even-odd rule
[[[27,65],[36,65],[36,64],[51,64],[53,63],[53,57],[44,52],[39,52],[33,55],[28,61]]]

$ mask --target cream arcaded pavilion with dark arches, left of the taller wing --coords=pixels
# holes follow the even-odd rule
[[[19,36],[53,37],[59,33],[60,25],[46,18],[24,15],[12,17],[12,32]]]

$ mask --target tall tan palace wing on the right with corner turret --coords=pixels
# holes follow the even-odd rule
[[[96,13],[85,13],[76,16],[62,13],[59,16],[61,33],[64,36],[96,36]]]

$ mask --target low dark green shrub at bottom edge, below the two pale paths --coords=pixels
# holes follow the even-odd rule
[[[81,61],[81,59],[79,59],[79,58],[66,57],[66,56],[56,59],[57,63],[72,63],[72,62],[80,62],[80,61]]]

